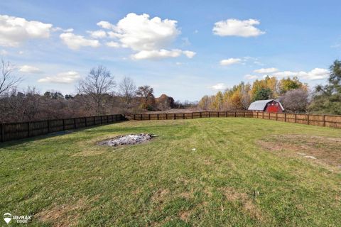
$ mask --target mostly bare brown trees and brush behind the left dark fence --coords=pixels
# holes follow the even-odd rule
[[[39,121],[55,118],[133,114],[142,111],[182,108],[180,101],[162,94],[155,97],[153,88],[136,87],[130,77],[117,84],[112,73],[99,65],[75,87],[75,95],[48,91],[40,94],[35,87],[18,89],[23,81],[13,73],[10,62],[0,65],[0,122]]]

